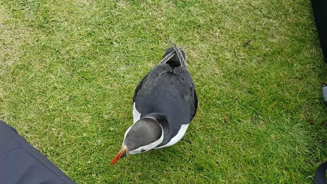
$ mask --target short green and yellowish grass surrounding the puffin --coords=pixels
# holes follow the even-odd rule
[[[197,116],[178,144],[111,167],[171,40]],[[78,183],[312,183],[325,71],[309,0],[0,1],[0,119]]]

